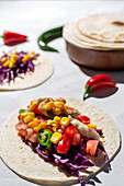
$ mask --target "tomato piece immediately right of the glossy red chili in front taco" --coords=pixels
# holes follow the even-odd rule
[[[72,137],[71,144],[79,146],[81,143],[81,133],[75,128],[75,135]]]

